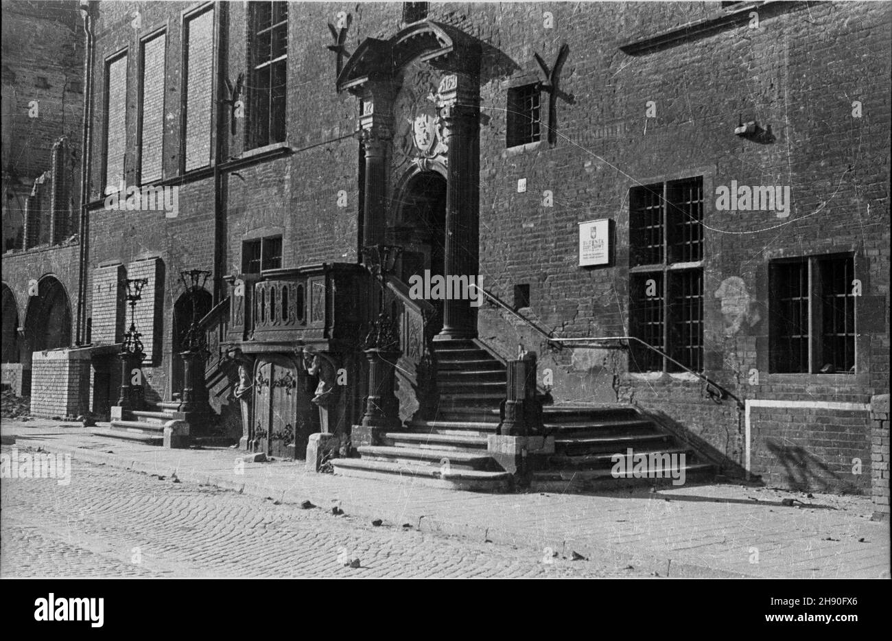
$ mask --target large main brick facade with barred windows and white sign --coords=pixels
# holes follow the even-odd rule
[[[180,398],[197,296],[181,272],[208,271],[202,316],[225,319],[211,361],[243,359],[240,383],[231,370],[211,389],[222,423],[244,441],[279,430],[298,454],[320,429],[354,450],[361,434],[386,463],[392,444],[351,426],[378,296],[356,268],[387,243],[402,249],[380,296],[410,424],[483,404],[437,382],[438,334],[442,362],[495,370],[534,351],[556,408],[644,412],[727,474],[869,491],[871,396],[888,393],[888,5],[124,2],[92,16],[76,339],[120,341],[111,289],[151,263],[147,398]],[[175,189],[177,211],[106,206],[109,188],[145,185]],[[591,248],[606,262],[581,266]],[[401,287],[425,270],[483,277],[486,303],[413,305]],[[238,407],[229,391],[252,381]]]

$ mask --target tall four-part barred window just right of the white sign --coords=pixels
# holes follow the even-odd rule
[[[630,369],[703,370],[703,178],[629,193]],[[681,363],[683,367],[679,364]]]

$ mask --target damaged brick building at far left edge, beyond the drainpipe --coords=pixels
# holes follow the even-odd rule
[[[4,385],[29,395],[31,354],[72,340],[84,35],[76,2],[2,11],[2,370]]]

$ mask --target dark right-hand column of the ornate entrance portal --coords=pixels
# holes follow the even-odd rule
[[[440,117],[449,137],[446,187],[446,276],[479,272],[480,87],[468,74],[444,76]],[[473,292],[469,292],[473,295]],[[443,328],[434,340],[474,338],[477,312],[470,297],[443,301]]]

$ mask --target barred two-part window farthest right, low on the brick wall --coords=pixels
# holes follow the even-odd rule
[[[855,371],[855,259],[774,261],[769,271],[770,359],[777,373]]]

